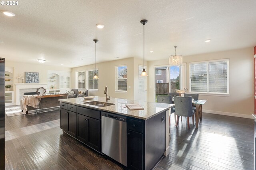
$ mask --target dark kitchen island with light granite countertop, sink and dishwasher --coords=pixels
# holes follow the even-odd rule
[[[106,102],[98,96],[59,101],[64,132],[128,169],[152,169],[169,154],[172,104],[118,98]],[[144,109],[129,110],[126,104],[139,104]]]

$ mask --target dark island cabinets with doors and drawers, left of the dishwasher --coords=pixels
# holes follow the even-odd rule
[[[60,102],[60,128],[101,152],[100,111]]]

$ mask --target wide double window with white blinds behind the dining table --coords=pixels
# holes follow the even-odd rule
[[[229,94],[229,59],[190,63],[190,92]]]

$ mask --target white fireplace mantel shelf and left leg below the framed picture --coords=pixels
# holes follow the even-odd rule
[[[16,86],[16,105],[20,105],[20,89],[38,89],[39,87],[47,88],[44,83],[15,83]]]

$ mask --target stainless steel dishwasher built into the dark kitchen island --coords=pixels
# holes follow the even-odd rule
[[[126,161],[126,117],[101,113],[102,153],[127,166]]]

